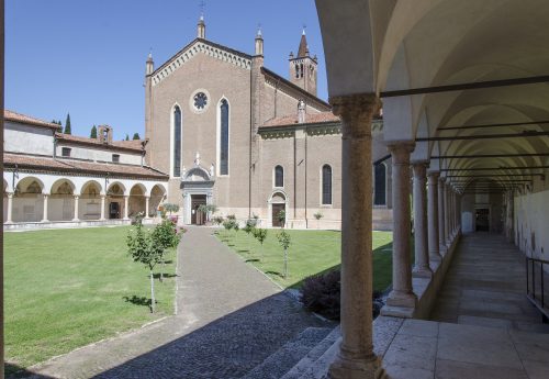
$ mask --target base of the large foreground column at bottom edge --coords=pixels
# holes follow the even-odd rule
[[[329,367],[329,379],[388,379],[381,360],[373,357],[371,360],[346,359],[339,355]]]

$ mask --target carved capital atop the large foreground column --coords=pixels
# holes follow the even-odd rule
[[[371,135],[371,119],[381,108],[376,93],[356,93],[329,98],[335,115],[343,119],[343,138],[362,138]]]

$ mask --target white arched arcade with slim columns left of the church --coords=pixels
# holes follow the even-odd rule
[[[157,215],[166,186],[153,180],[4,171],[4,225],[130,220]]]

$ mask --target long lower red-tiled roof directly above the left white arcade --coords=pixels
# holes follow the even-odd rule
[[[18,169],[33,171],[63,172],[68,175],[96,175],[123,178],[144,178],[168,180],[168,175],[146,166],[91,161],[81,159],[53,158],[51,156],[29,154],[3,154],[5,168],[18,166]]]

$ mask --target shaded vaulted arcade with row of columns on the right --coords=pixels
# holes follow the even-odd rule
[[[381,378],[389,366],[393,378],[417,377],[415,367],[381,365],[372,344],[372,118],[383,109],[392,156],[393,287],[382,314],[428,319],[463,233],[503,233],[544,259],[549,3],[315,2],[329,102],[343,120],[341,339],[329,376]]]

